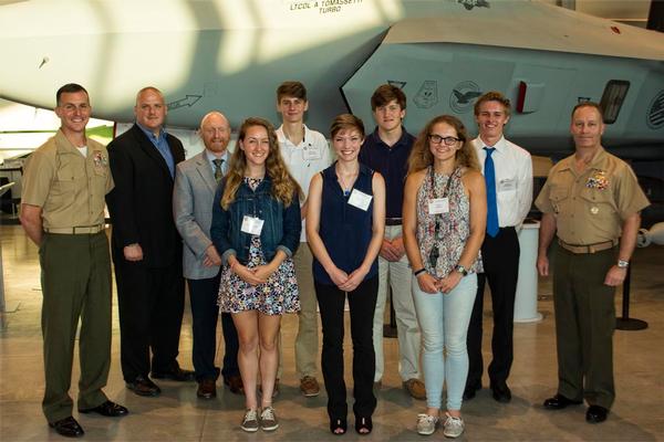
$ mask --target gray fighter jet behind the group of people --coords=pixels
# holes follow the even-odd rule
[[[276,87],[302,81],[308,124],[352,112],[371,128],[385,82],[408,97],[406,127],[435,115],[475,127],[473,105],[501,91],[508,134],[539,155],[571,150],[569,114],[606,112],[606,146],[664,158],[664,35],[539,1],[59,0],[0,6],[0,97],[53,107],[83,84],[94,116],[132,122],[136,92],[159,87],[168,125],[195,128],[210,109],[237,127],[272,120]]]

